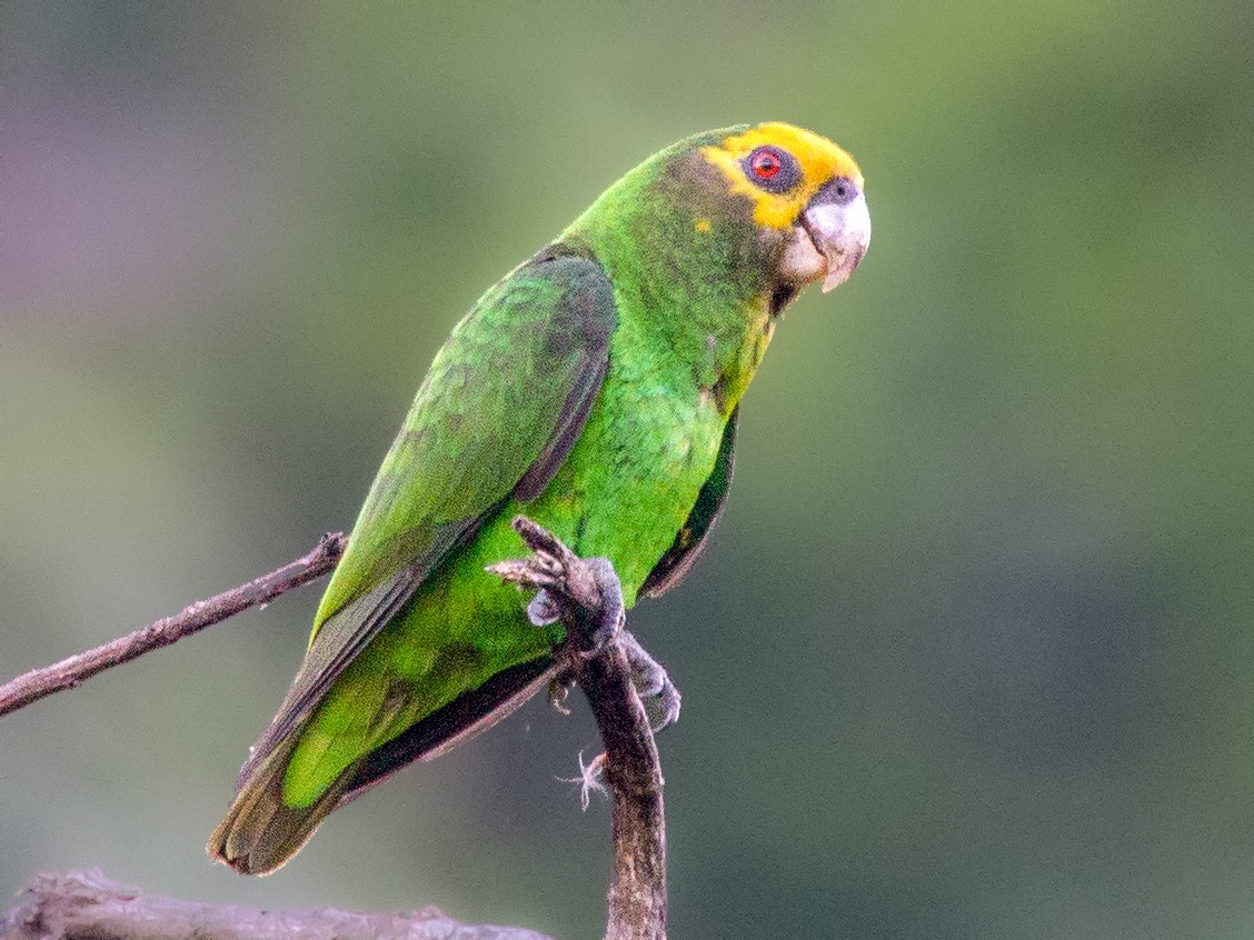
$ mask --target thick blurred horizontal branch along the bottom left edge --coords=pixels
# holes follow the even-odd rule
[[[411,914],[257,910],[162,897],[99,869],[36,875],[0,920],[0,940],[549,940],[522,927],[474,926],[435,907]]]

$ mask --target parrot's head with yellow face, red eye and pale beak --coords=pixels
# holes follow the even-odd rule
[[[870,214],[848,153],[771,122],[660,150],[564,236],[589,244],[619,285],[652,292],[655,308],[678,303],[706,328],[760,306],[774,318],[806,285],[844,283],[867,253]]]

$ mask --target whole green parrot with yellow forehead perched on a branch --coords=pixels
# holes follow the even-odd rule
[[[517,514],[609,559],[626,608],[678,583],[775,321],[869,239],[848,153],[742,125],[653,154],[489,288],[418,390],[209,855],[277,869],[334,808],[558,677],[561,625],[484,570],[520,554]]]

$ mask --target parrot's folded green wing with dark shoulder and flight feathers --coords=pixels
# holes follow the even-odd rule
[[[241,770],[241,788],[451,549],[505,500],[543,491],[583,429],[614,323],[603,268],[556,251],[509,274],[458,323],[384,459],[305,663]]]

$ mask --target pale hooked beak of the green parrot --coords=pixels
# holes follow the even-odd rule
[[[869,244],[867,197],[850,179],[839,177],[801,212],[780,259],[780,273],[799,285],[821,279],[826,293],[849,279]]]

